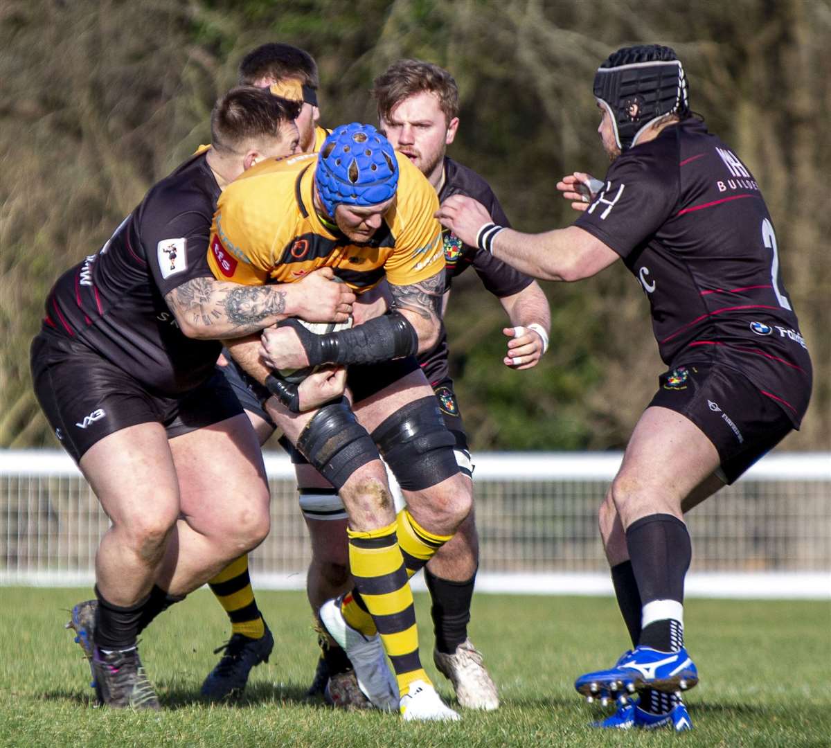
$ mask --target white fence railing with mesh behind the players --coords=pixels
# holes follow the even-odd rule
[[[596,512],[619,453],[475,455],[481,591],[607,593]],[[259,588],[299,588],[309,544],[294,475],[266,455],[272,532],[252,556]],[[831,453],[774,454],[688,516],[687,592],[831,598]],[[91,583],[107,519],[57,450],[0,451],[0,583]]]

